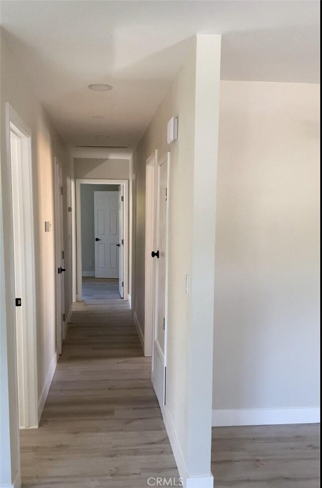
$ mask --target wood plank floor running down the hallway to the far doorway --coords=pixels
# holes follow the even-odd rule
[[[21,431],[23,487],[145,488],[178,471],[127,301],[74,304],[36,430]]]

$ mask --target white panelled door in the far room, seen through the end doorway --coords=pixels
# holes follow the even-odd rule
[[[119,192],[94,192],[95,277],[119,277]]]

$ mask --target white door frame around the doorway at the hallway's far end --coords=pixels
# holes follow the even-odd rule
[[[76,301],[83,300],[81,185],[123,185],[124,191],[124,300],[128,300],[128,185],[127,179],[75,179],[76,203]]]

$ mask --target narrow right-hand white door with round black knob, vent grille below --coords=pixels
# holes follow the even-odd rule
[[[153,343],[152,383],[159,405],[165,404],[166,368],[166,281],[168,232],[168,156],[158,161],[156,169],[156,209],[153,258]]]

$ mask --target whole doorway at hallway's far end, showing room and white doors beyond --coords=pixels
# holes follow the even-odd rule
[[[76,299],[128,300],[128,181],[75,185]]]

